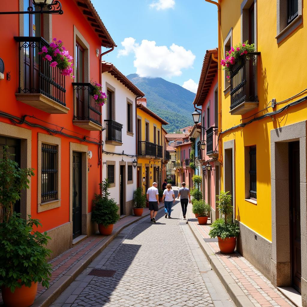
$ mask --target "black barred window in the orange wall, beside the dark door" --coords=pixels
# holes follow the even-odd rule
[[[58,146],[42,144],[41,148],[41,202],[57,197]]]

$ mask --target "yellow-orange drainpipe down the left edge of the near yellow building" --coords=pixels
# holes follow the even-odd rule
[[[218,2],[212,1],[212,0],[205,0],[206,2],[215,4],[217,6],[217,18],[218,18],[218,88],[219,88],[219,94],[218,94],[218,134],[222,132],[222,71],[221,71],[221,7],[220,7],[220,0]],[[212,60],[216,59],[212,56]],[[222,157],[222,150],[221,150],[221,140],[219,141],[219,162],[222,164],[223,157]]]

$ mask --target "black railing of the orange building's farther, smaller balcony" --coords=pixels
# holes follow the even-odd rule
[[[72,83],[74,87],[74,119],[89,120],[101,124],[100,106],[94,99],[94,87],[90,83]]]

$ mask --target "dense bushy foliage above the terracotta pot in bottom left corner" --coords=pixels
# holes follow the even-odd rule
[[[7,223],[0,224],[0,287],[15,289],[40,282],[49,287],[52,267],[46,262],[51,251],[47,245],[51,238],[47,232],[33,231],[41,226],[39,220],[22,219],[14,212]],[[18,281],[20,280],[20,282]]]

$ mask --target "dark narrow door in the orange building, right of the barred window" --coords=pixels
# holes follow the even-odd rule
[[[82,154],[72,152],[72,238],[81,235],[82,219]]]

